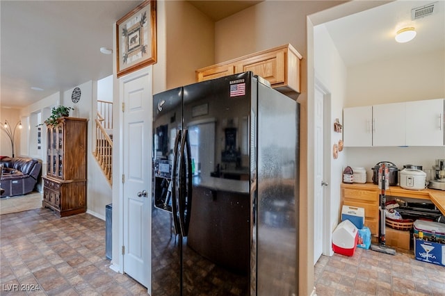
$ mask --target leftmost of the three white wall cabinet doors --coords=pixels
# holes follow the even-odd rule
[[[372,106],[343,109],[343,142],[345,147],[371,147]]]

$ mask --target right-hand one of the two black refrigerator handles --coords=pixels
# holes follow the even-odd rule
[[[188,235],[188,225],[191,214],[191,156],[190,142],[188,140],[188,129],[184,129],[179,150],[179,225],[183,237]]]

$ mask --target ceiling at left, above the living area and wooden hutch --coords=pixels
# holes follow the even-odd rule
[[[27,106],[113,73],[113,24],[141,1],[0,1],[1,106]],[[43,91],[31,90],[43,88]]]

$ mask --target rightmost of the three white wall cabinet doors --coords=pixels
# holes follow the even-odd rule
[[[406,103],[406,145],[444,145],[444,99]]]

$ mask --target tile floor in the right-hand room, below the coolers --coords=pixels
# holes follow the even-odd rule
[[[315,265],[317,295],[445,295],[445,267],[357,248],[354,256],[321,256]]]

